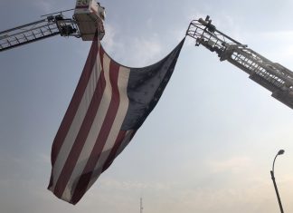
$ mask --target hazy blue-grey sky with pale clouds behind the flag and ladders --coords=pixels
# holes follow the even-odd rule
[[[191,20],[213,24],[273,62],[293,69],[292,1],[101,1],[103,45],[119,63],[156,63]],[[73,8],[74,1],[1,1],[0,31]],[[71,13],[68,14],[71,16]],[[293,211],[293,114],[270,92],[187,38],[161,101],[136,137],[77,206],[47,190],[52,140],[90,43],[53,37],[0,55],[0,211]]]

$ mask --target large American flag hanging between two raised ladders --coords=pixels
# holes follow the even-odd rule
[[[76,204],[115,160],[154,109],[184,39],[163,60],[143,68],[113,61],[92,42],[80,82],[52,144],[48,189]]]

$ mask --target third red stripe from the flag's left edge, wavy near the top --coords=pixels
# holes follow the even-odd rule
[[[93,150],[90,153],[90,159],[88,160],[86,167],[83,169],[80,180],[76,186],[76,189],[74,190],[74,194],[71,198],[72,204],[76,204],[86,192],[90,182],[90,177],[92,175],[93,170],[96,167],[100,154],[109,137],[109,132],[112,128],[113,122],[118,112],[118,107],[120,102],[119,91],[118,91],[118,71],[119,71],[119,65],[111,61],[109,65],[109,79],[112,86],[111,102],[109,104],[109,109],[107,111],[105,120],[99,131],[99,135],[96,140],[96,143],[93,147]]]

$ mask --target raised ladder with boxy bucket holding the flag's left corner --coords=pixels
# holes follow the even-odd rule
[[[83,41],[91,41],[98,29],[99,40],[103,38],[105,34],[104,7],[94,0],[77,0],[75,9],[72,10],[74,10],[72,18],[64,18],[62,13],[71,11],[66,10],[48,15],[43,20],[0,32],[0,52],[57,34],[81,37]]]

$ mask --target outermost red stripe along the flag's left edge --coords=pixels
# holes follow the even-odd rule
[[[90,53],[88,55],[87,62],[85,63],[82,74],[80,76],[80,81],[75,89],[75,92],[71,99],[71,103],[64,115],[63,120],[61,121],[61,126],[52,144],[52,154],[51,154],[52,166],[54,165],[56,161],[59,150],[61,150],[63,141],[65,140],[65,137],[71,127],[71,123],[75,117],[76,111],[79,108],[83,93],[85,89],[87,88],[87,84],[90,80],[90,74],[96,62],[98,51],[99,51],[98,39],[94,39],[90,47]]]

